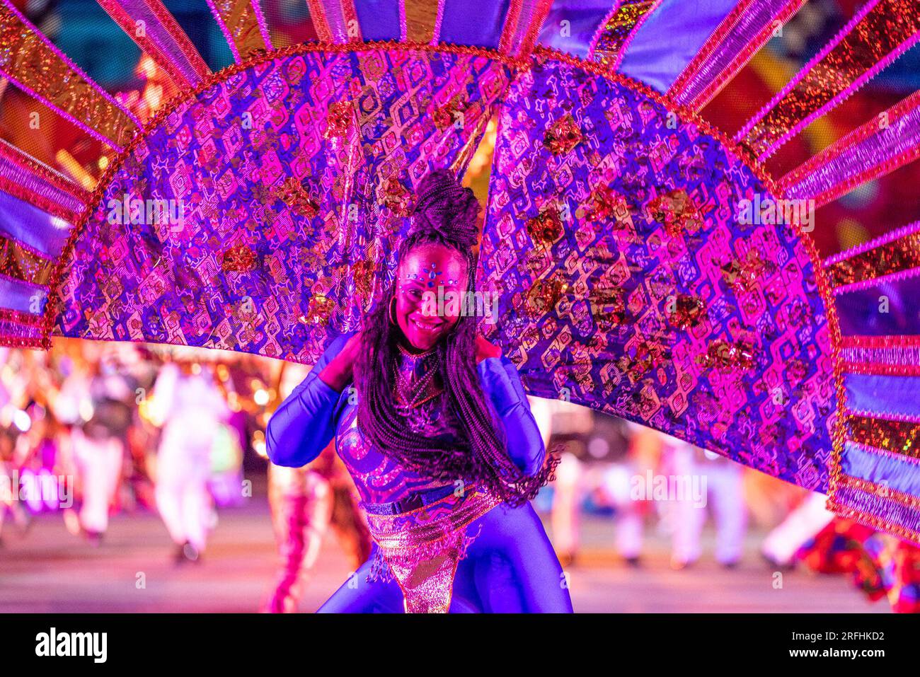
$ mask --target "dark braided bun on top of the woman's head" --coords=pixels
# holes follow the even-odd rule
[[[461,247],[473,247],[478,238],[479,201],[449,169],[436,169],[422,178],[408,235],[433,231]]]

